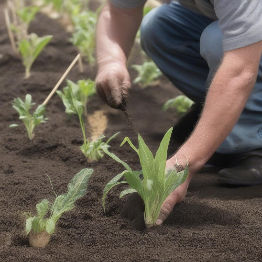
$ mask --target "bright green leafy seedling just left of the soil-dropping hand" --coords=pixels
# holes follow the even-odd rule
[[[95,81],[91,79],[87,80],[78,80],[77,83],[73,81],[66,80],[67,86],[72,88],[73,94],[77,100],[79,100],[84,106],[84,114],[87,116],[87,108],[86,104],[88,102],[89,97],[96,93],[95,89]]]

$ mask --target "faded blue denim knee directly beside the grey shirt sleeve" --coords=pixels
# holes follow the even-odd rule
[[[208,62],[209,68],[217,67],[223,58],[223,34],[218,21],[205,28],[200,37],[200,54]]]

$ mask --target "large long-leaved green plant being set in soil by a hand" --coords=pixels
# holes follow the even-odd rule
[[[107,149],[103,149],[108,156],[112,157],[126,168],[125,171],[118,174],[109,183],[107,183],[103,192],[104,211],[107,192],[115,185],[127,183],[130,188],[122,191],[119,198],[126,194],[137,192],[145,204],[145,225],[148,228],[156,225],[161,205],[174,189],[185,182],[188,175],[188,165],[185,167],[185,170],[181,172],[166,170],[167,148],[172,129],[173,128],[170,128],[163,137],[155,158],[140,135],[138,135],[138,149],[132,144],[128,137],[123,140],[120,146],[122,146],[125,142],[128,142],[131,148],[138,154],[142,167],[140,172],[133,171],[127,163],[119,159]],[[141,179],[139,174],[143,174],[144,178]],[[119,179],[121,179],[122,176],[124,176],[127,181],[119,182]]]

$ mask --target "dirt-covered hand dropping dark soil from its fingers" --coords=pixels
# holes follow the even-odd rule
[[[126,65],[107,63],[99,67],[96,77],[96,91],[110,107],[123,109],[131,87]]]

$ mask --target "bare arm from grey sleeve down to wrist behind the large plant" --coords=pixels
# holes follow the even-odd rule
[[[258,42],[224,54],[199,122],[176,154],[182,165],[186,155],[191,170],[199,170],[230,134],[255,84],[261,52]]]

